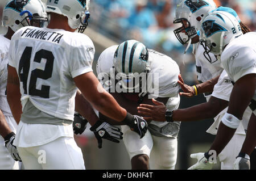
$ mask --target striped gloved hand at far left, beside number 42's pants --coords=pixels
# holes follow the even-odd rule
[[[14,132],[11,132],[10,134],[8,134],[4,139],[5,139],[5,147],[7,148],[7,150],[9,151],[11,157],[15,160],[15,161],[22,161],[21,158],[19,157],[19,153],[18,150],[16,148],[16,146],[13,145],[13,141],[15,139],[16,134]]]

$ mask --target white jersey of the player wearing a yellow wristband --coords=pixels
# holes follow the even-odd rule
[[[222,65],[220,60],[217,60],[216,62],[213,62],[212,64],[204,57],[204,48],[203,46],[198,43],[195,52],[195,58],[196,58],[196,75],[197,80],[199,82],[206,82],[209,81],[212,78],[217,77],[220,75],[223,71]],[[212,60],[216,60],[216,57],[214,54],[209,53],[210,58]],[[204,94],[205,96],[208,96],[208,94]]]

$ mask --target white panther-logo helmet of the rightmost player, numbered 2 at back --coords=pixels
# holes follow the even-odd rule
[[[242,34],[235,16],[225,11],[210,12],[201,23],[200,30],[200,43],[205,49],[205,58],[212,63],[209,52],[221,56],[225,46]]]

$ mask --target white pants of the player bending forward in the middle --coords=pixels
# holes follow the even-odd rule
[[[130,159],[135,155],[146,154],[150,158],[150,169],[174,170],[177,160],[177,138],[157,137],[149,131],[143,138],[122,125],[123,142]]]

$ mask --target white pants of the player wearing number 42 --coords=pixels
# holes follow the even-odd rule
[[[26,170],[85,170],[82,151],[71,137],[18,151]]]

